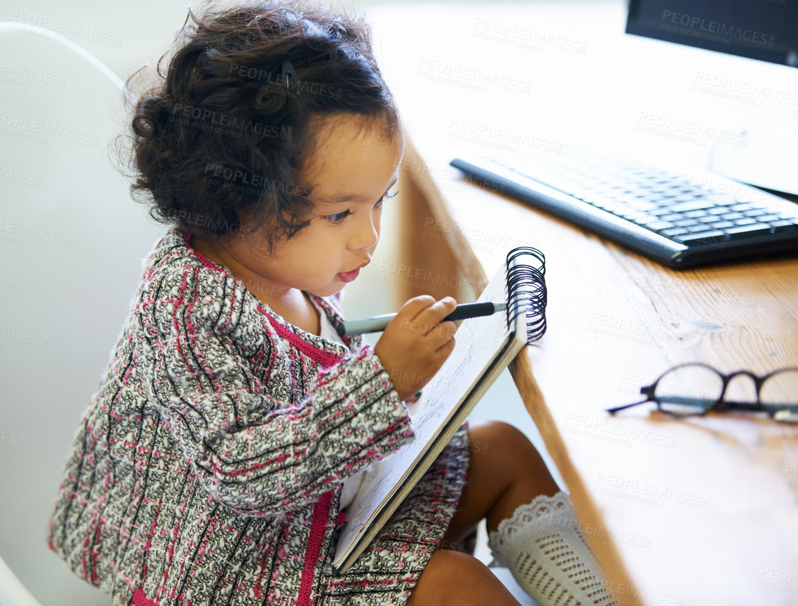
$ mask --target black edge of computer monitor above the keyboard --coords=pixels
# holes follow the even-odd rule
[[[630,0],[626,33],[798,67],[794,0]]]

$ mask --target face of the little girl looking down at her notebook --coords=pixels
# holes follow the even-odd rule
[[[377,247],[382,199],[392,195],[404,152],[401,132],[385,140],[355,120],[323,125],[316,153],[302,167],[313,191],[310,224],[278,242],[271,257],[265,247],[235,246],[237,264],[261,281],[247,288],[267,298],[290,289],[329,297],[353,281]]]

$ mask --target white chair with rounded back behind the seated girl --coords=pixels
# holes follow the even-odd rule
[[[109,162],[126,128],[122,82],[80,46],[17,22],[0,22],[0,57],[11,66],[0,73],[0,604],[106,606],[49,551],[46,522],[165,226]]]

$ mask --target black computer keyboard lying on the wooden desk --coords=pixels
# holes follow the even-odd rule
[[[450,164],[670,267],[798,250],[798,204],[693,167],[580,149],[460,155]]]

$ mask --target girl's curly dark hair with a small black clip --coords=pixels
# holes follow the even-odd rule
[[[401,128],[370,37],[362,14],[307,0],[238,2],[200,17],[189,8],[166,75],[168,53],[135,102],[133,199],[156,221],[219,246],[262,233],[271,254],[308,224],[313,199],[301,171],[319,127],[358,118],[386,139]]]

